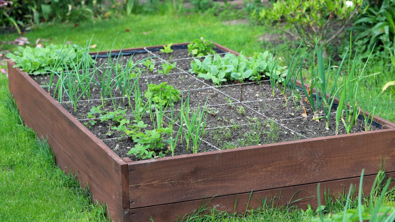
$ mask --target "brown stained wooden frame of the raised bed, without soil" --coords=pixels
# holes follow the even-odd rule
[[[9,90],[26,126],[48,139],[58,166],[77,175],[81,186],[89,184],[92,198],[107,204],[114,221],[171,221],[207,201],[218,210],[244,212],[252,191],[251,207],[266,197],[279,198],[280,205],[300,198],[294,204],[317,205],[318,182],[321,194],[342,192],[342,185],[359,183],[363,168],[369,190],[380,157],[387,158],[388,175],[395,175],[395,124],[377,116],[382,130],[132,162],[13,65],[8,61]]]

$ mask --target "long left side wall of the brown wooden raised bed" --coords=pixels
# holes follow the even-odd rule
[[[59,167],[78,175],[82,186],[88,183],[93,198],[107,203],[112,218],[123,220],[122,207],[129,207],[126,162],[13,65],[8,61],[9,89],[26,126],[48,137]]]

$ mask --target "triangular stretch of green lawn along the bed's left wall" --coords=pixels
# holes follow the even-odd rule
[[[86,190],[56,167],[47,143],[21,124],[0,75],[0,221],[107,221]]]

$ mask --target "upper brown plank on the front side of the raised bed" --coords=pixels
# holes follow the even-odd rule
[[[395,171],[395,129],[129,162],[130,207],[373,174],[380,156]]]

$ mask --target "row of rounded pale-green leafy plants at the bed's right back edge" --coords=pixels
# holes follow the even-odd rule
[[[220,85],[226,81],[244,82],[245,79],[259,81],[264,77],[269,77],[271,70],[275,67],[273,54],[265,51],[264,53],[255,53],[254,56],[246,58],[245,55],[236,56],[232,53],[224,57],[216,54],[206,56],[201,62],[194,59],[191,62],[191,73],[197,73],[198,77],[211,79],[213,83]],[[286,66],[277,66],[275,76],[280,79],[286,73]]]

